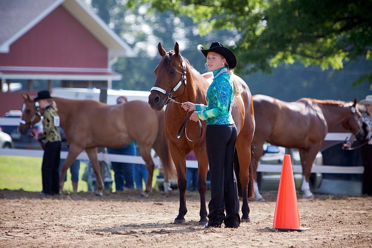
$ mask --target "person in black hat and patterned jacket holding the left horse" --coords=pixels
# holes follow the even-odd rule
[[[34,101],[39,103],[43,115],[43,132],[36,138],[45,141],[41,167],[43,191],[40,195],[60,194],[58,168],[61,156],[61,134],[58,130],[60,117],[57,114],[57,106],[48,90],[39,91]]]

